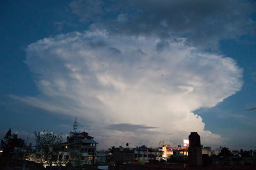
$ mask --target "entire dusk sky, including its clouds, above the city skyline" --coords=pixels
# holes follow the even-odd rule
[[[255,148],[255,26],[252,1],[1,1],[0,134]]]

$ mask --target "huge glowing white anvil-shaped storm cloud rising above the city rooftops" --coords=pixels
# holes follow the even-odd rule
[[[78,117],[106,147],[175,143],[191,131],[212,143],[220,135],[205,130],[193,111],[239,91],[242,71],[231,58],[200,52],[184,41],[106,31],[44,38],[29,45],[26,58],[42,93],[16,98]],[[135,131],[108,128],[122,123]]]

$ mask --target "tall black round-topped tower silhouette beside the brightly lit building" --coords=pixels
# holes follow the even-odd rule
[[[188,164],[189,166],[203,165],[200,135],[197,132],[191,132],[189,135]]]

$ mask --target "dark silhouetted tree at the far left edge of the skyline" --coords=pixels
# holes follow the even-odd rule
[[[23,139],[18,138],[17,134],[12,134],[11,128],[6,132],[4,139],[1,140],[1,147],[3,148],[3,157],[12,157],[15,147],[24,147]]]

